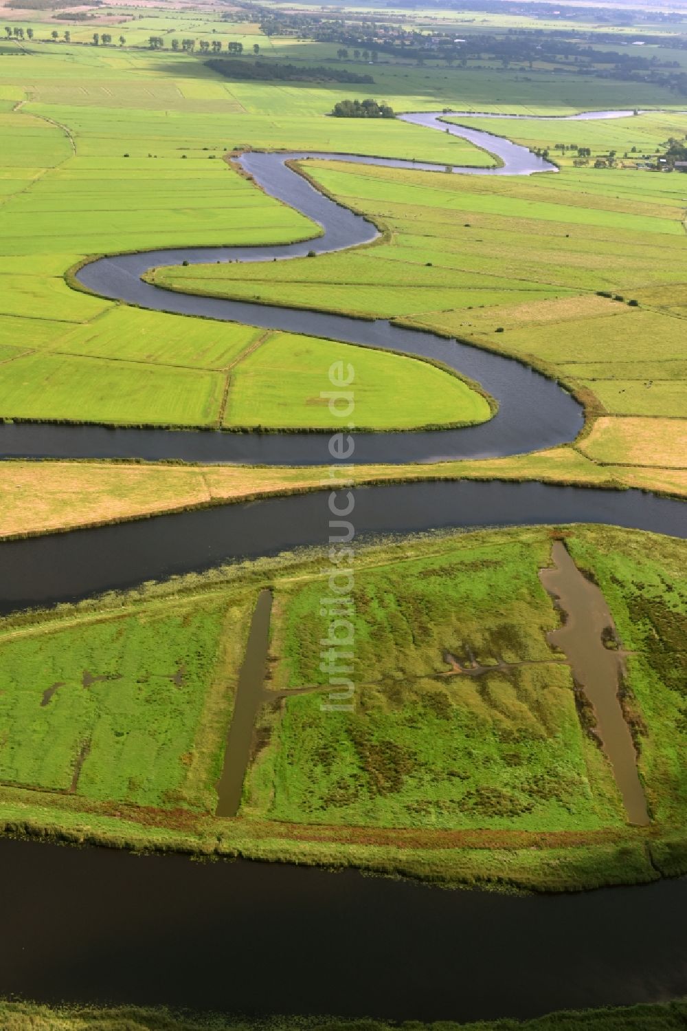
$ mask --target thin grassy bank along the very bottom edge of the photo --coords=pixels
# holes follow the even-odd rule
[[[346,1021],[337,1018],[274,1017],[246,1021],[231,1017],[181,1015],[169,1009],[138,1006],[98,1008],[43,1006],[32,1002],[0,1000],[5,1031],[390,1031],[385,1021]],[[442,1021],[402,1025],[406,1031],[682,1031],[687,1021],[683,1000],[646,1003],[608,1009],[564,1010],[529,1021],[480,1021],[455,1024]]]

